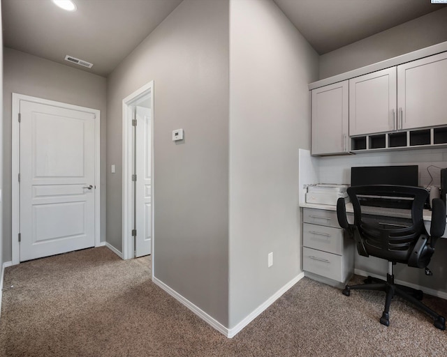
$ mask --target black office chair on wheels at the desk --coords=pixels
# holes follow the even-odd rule
[[[432,201],[432,222],[430,236],[423,222],[423,206],[428,197],[424,188],[395,185],[368,185],[348,188],[348,194],[354,208],[354,224],[349,224],[346,218],[344,199],[337,201],[337,218],[340,227],[354,238],[358,254],[369,257],[379,257],[388,260],[388,274],[386,281],[368,276],[365,284],[346,285],[343,294],[349,296],[351,290],[376,290],[386,292],[385,310],[383,310],[380,323],[390,326],[390,304],[393,296],[397,295],[413,303],[420,310],[425,311],[434,319],[434,326],[445,330],[446,319],[420,302],[423,291],[395,284],[393,265],[407,264],[416,268],[425,268],[426,275],[432,275],[427,265],[434,252],[437,238],[444,234],[446,227],[446,206],[441,199]],[[379,217],[378,213],[367,214],[367,205],[393,207],[404,204],[411,211],[411,218],[399,220],[388,217]],[[371,210],[372,208],[369,208]],[[382,209],[382,208],[380,208]],[[374,210],[374,208],[373,208]],[[383,214],[383,213],[381,213]]]

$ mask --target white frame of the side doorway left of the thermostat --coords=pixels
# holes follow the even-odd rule
[[[152,130],[152,140],[151,140],[151,197],[152,197],[152,275],[154,275],[154,81],[151,81],[140,89],[137,89],[129,96],[123,99],[123,177],[122,177],[122,258],[123,259],[133,259],[135,257],[135,243],[132,236],[133,227],[133,204],[134,199],[132,196],[133,191],[133,181],[132,181],[132,162],[133,162],[133,126],[131,118],[131,107],[132,103],[150,94],[151,102],[151,130]],[[137,126],[138,128],[138,126]]]

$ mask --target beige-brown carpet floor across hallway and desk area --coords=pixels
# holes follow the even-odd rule
[[[304,278],[228,339],[149,273],[149,259],[105,247],[6,268],[0,356],[447,356],[447,332],[399,298],[379,324],[380,292]],[[447,301],[424,301],[447,316]]]

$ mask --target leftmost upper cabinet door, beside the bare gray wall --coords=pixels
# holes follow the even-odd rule
[[[348,86],[346,80],[312,90],[312,155],[349,150]]]

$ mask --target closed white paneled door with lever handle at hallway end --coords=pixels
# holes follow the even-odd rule
[[[20,100],[20,261],[95,244],[95,115]]]

